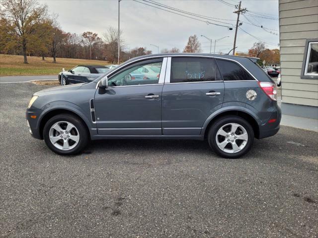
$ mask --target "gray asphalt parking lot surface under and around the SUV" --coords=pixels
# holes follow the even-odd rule
[[[207,143],[92,142],[62,157],[25,109],[48,86],[0,84],[0,237],[318,236],[318,134],[281,127],[242,159]]]

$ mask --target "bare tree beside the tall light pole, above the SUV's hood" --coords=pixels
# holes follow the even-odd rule
[[[125,48],[125,42],[123,39],[123,31],[120,31],[120,51],[123,51]],[[104,40],[106,43],[105,46],[105,55],[108,61],[114,63],[118,58],[118,29],[109,26],[106,29],[106,32],[103,34]]]

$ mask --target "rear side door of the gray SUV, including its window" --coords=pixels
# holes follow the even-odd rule
[[[172,57],[162,89],[162,134],[199,135],[222,107],[224,82],[213,58]]]

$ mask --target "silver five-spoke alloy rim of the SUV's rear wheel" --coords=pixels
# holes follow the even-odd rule
[[[247,144],[246,129],[238,123],[223,125],[216,134],[217,146],[224,152],[234,154],[241,151]]]

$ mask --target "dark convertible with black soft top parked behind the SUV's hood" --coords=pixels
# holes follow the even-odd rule
[[[90,82],[104,75],[109,70],[103,65],[78,65],[68,71],[63,70],[60,72],[58,79],[61,85]]]

